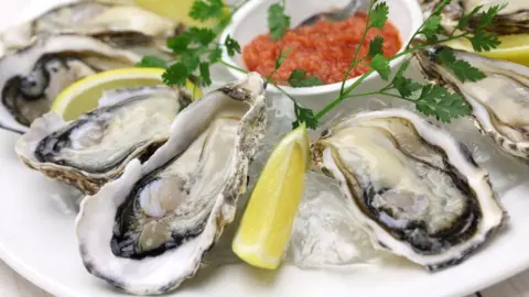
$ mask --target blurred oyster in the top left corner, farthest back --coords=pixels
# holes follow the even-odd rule
[[[78,1],[62,4],[32,21],[12,26],[1,40],[8,50],[17,50],[30,45],[37,37],[66,33],[101,37],[112,45],[154,43],[164,47],[165,40],[182,30],[182,24],[132,3]]]

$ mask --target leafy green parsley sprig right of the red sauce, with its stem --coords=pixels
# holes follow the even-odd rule
[[[387,58],[382,55],[382,37],[377,37],[370,41],[367,56],[358,59],[358,54],[356,53],[353,62],[349,65],[349,69],[359,63],[363,63],[367,57],[371,57],[369,63],[371,69],[359,76],[350,86],[345,87],[349,73],[347,72],[347,75],[342,81],[342,89],[338,98],[332,101],[323,110],[315,113],[314,118],[298,118],[296,121],[306,122],[309,128],[314,129],[315,125],[310,123],[317,123],[320,119],[322,119],[343,100],[374,95],[390,96],[413,102],[418,111],[424,113],[425,116],[432,116],[442,122],[450,122],[452,119],[468,116],[471,113],[471,107],[458,94],[451,92],[441,86],[433,84],[420,84],[407,78],[404,76],[404,72],[409,66],[409,61],[406,61],[400,65],[392,80],[380,90],[352,95],[352,91],[375,72],[378,73],[384,80],[388,80],[389,77],[391,77],[391,61],[412,54],[417,51],[423,51],[430,46],[439,45],[457,38],[468,40],[476,52],[489,51],[499,45],[497,36],[488,33],[487,30],[493,25],[492,20],[494,19],[494,15],[505,8],[505,6],[490,7],[484,13],[477,15],[477,11],[483,10],[483,6],[478,6],[474,11],[468,13],[472,15],[463,14],[457,25],[457,28],[463,29],[465,28],[465,22],[467,22],[469,18],[481,16],[478,19],[479,25],[474,32],[458,32],[457,30],[453,30],[450,34],[443,34],[443,28],[441,25],[441,11],[450,2],[451,0],[443,0],[424,21],[424,23],[415,31],[415,33],[412,35],[412,38],[407,44],[406,50],[390,58]],[[388,19],[388,12],[389,10],[385,2],[371,0],[368,10],[368,26],[366,28],[359,44],[363,44],[366,37],[366,32],[370,28],[384,26]],[[418,40],[422,40],[422,42],[417,42]],[[485,74],[469,65],[467,62],[456,59],[453,50],[449,47],[443,47],[443,50],[438,53],[438,59],[441,64],[453,72],[453,74],[463,82],[477,81],[485,77]]]

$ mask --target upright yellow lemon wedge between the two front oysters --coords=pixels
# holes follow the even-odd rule
[[[289,244],[309,167],[305,125],[276,146],[242,215],[233,251],[248,264],[276,270]]]

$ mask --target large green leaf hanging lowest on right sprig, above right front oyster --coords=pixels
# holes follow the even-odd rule
[[[414,102],[417,110],[445,123],[471,114],[471,107],[460,95],[435,85],[423,86],[419,99]]]

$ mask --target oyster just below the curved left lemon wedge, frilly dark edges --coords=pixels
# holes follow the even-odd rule
[[[18,140],[15,152],[47,177],[95,194],[129,161],[148,157],[166,141],[171,122],[190,98],[184,89],[168,87],[108,91],[97,109],[75,121],[64,122],[54,112],[39,118]]]

